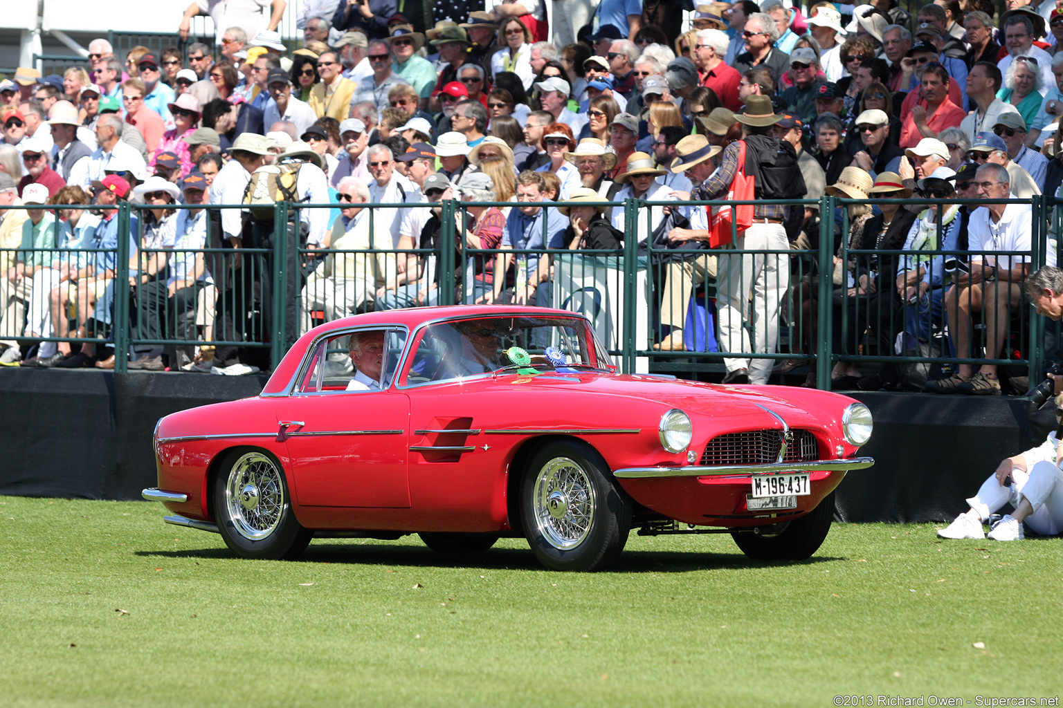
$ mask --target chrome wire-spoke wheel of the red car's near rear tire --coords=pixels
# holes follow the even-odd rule
[[[224,514],[240,536],[268,538],[281,524],[286,503],[281,470],[261,452],[241,455],[229,470]]]

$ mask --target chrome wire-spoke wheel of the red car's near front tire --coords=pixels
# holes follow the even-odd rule
[[[590,534],[597,494],[587,471],[570,457],[555,457],[539,470],[533,514],[539,533],[558,550],[571,550]]]

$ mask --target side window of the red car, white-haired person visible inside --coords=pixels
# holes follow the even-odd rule
[[[315,347],[299,393],[386,390],[405,344],[406,331],[398,329],[344,331],[322,340]]]

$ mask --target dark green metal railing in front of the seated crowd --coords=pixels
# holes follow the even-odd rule
[[[871,201],[867,204],[879,204],[883,200]],[[977,202],[932,202],[921,200],[895,200],[894,203],[918,204],[929,207],[938,204],[977,204]],[[1013,203],[1028,204],[1031,207],[1032,219],[1032,249],[1028,254],[1017,254],[1016,256],[1029,256],[1031,259],[1030,271],[1032,272],[1045,262],[1048,248],[1056,248],[1057,245],[1050,240],[1054,235],[1063,231],[1063,210],[1053,209],[1054,201],[1047,196],[1037,196],[1032,200],[1016,200]],[[547,205],[550,203],[546,203]],[[137,271],[137,260],[131,260],[134,254],[130,251],[129,239],[118,239],[116,248],[116,269],[114,273],[114,306],[112,326],[106,330],[106,334],[100,328],[90,328],[88,331],[95,333],[94,336],[44,336],[41,332],[34,332],[37,341],[54,341],[67,343],[92,343],[99,346],[114,346],[115,351],[120,352],[116,357],[116,372],[123,372],[126,367],[125,352],[131,349],[142,351],[147,348],[190,348],[195,346],[216,346],[216,347],[239,347],[242,349],[268,350],[269,364],[275,365],[285,355],[291,343],[306,329],[314,324],[331,317],[342,316],[348,313],[366,311],[373,308],[383,307],[377,297],[377,291],[386,280],[381,273],[387,272],[388,267],[396,267],[400,260],[405,261],[408,257],[415,257],[411,263],[417,263],[418,267],[423,267],[424,273],[419,273],[412,278],[414,282],[423,282],[426,290],[434,290],[434,303],[439,305],[469,304],[477,298],[491,300],[490,295],[494,290],[500,290],[502,294],[508,295],[516,284],[516,262],[510,264],[507,272],[499,272],[497,259],[500,254],[512,256],[513,261],[518,257],[549,257],[552,259],[553,277],[550,284],[542,292],[546,301],[540,305],[551,305],[564,309],[573,309],[585,312],[592,321],[595,329],[609,349],[610,353],[617,357],[625,372],[656,370],[656,372],[677,372],[703,374],[724,370],[724,360],[741,358],[753,361],[779,362],[786,360],[810,360],[810,373],[815,374],[815,381],[819,387],[829,388],[831,386],[831,368],[839,362],[855,362],[864,365],[880,364],[926,364],[934,363],[939,366],[957,366],[962,364],[982,365],[998,364],[1009,367],[1027,367],[1031,379],[1040,376],[1044,368],[1045,358],[1045,322],[1043,317],[1030,316],[1032,310],[1028,307],[1028,300],[1019,298],[1017,301],[1000,304],[1001,311],[1011,324],[1009,325],[1008,339],[1001,344],[1000,351],[986,351],[982,353],[990,333],[984,326],[973,322],[972,325],[972,349],[971,352],[957,351],[949,352],[947,344],[943,346],[941,356],[934,356],[933,349],[926,349],[922,353],[918,346],[913,348],[902,348],[898,353],[896,350],[887,349],[889,343],[896,341],[897,335],[904,335],[907,329],[911,329],[912,317],[918,321],[921,315],[919,304],[905,303],[896,293],[890,293],[888,297],[881,298],[877,305],[861,295],[849,293],[848,288],[836,286],[832,277],[821,277],[824,274],[832,274],[834,270],[834,257],[840,257],[841,269],[845,274],[849,273],[848,264],[850,259],[857,264],[856,269],[870,269],[871,263],[890,263],[894,259],[900,259],[912,252],[905,252],[899,248],[867,249],[848,246],[848,215],[844,213],[841,219],[841,227],[846,234],[841,239],[841,243],[836,247],[834,220],[822,219],[817,224],[815,237],[815,247],[812,248],[756,248],[739,249],[738,241],[725,248],[712,251],[677,252],[672,248],[654,247],[652,238],[649,243],[640,244],[637,240],[636,220],[649,219],[651,210],[647,206],[653,205],[682,205],[686,207],[699,208],[710,206],[715,208],[733,208],[743,203],[724,202],[688,202],[688,203],[645,203],[637,200],[625,202],[602,202],[585,203],[589,206],[601,205],[609,209],[623,209],[629,225],[623,241],[623,247],[615,251],[586,251],[586,249],[511,249],[511,248],[471,248],[459,241],[456,228],[456,213],[459,207],[511,207],[513,211],[510,218],[514,218],[518,205],[513,203],[459,203],[445,201],[438,205],[440,209],[441,229],[439,234],[439,245],[436,248],[418,247],[399,249],[392,246],[391,242],[376,244],[378,247],[370,249],[315,249],[307,248],[305,239],[300,237],[298,226],[293,227],[289,222],[298,221],[298,214],[308,209],[336,209],[340,205],[292,205],[287,203],[279,204],[273,212],[272,222],[259,222],[257,228],[264,234],[284,234],[284,238],[272,237],[268,245],[264,243],[244,243],[243,248],[234,251],[229,247],[222,238],[223,235],[217,232],[218,225],[214,220],[207,219],[207,237],[204,246],[172,249],[142,248],[139,254],[139,262],[145,262],[152,255],[167,255],[173,259],[181,255],[201,256],[206,264],[206,270],[213,276],[213,284],[204,287],[207,294],[213,295],[210,301],[216,303],[213,311],[208,314],[209,323],[197,321],[195,325],[189,325],[188,313],[181,320],[180,313],[172,317],[167,314],[163,324],[154,331],[156,335],[147,336],[144,327],[136,326],[139,316],[147,310],[154,309],[162,311],[159,300],[157,300],[156,290],[147,291],[147,283],[141,283]],[[833,196],[825,196],[816,202],[803,200],[790,201],[789,204],[804,207],[815,206],[822,214],[833,214],[836,209],[857,204],[850,200],[842,200]],[[405,209],[415,205],[410,204],[370,204],[365,205],[368,211],[369,228],[374,228],[374,221],[382,218],[388,210]],[[26,209],[27,207],[11,207],[13,210]],[[70,207],[63,207],[70,208]],[[90,208],[90,207],[73,207]],[[195,207],[172,205],[176,210],[190,209]],[[229,209],[241,209],[241,205],[210,205],[207,212],[224,211]],[[421,208],[428,208],[421,205]],[[546,208],[553,208],[547,206]],[[55,217],[60,215],[56,207],[47,207]],[[135,243],[142,243],[144,219],[138,218],[140,212],[148,209],[145,205],[121,203],[117,207],[117,227],[119,234],[133,232]],[[289,218],[291,217],[291,218]],[[546,220],[542,221],[543,242],[547,243]],[[652,224],[651,224],[652,225]],[[924,257],[924,266],[931,276],[937,275],[937,269],[941,267],[939,261],[948,257],[978,257],[977,251],[946,248],[943,243],[944,230],[939,223],[935,227],[937,245],[917,252]],[[643,229],[645,231],[652,229]],[[212,245],[216,244],[216,245]],[[11,249],[22,254],[33,253],[33,248]],[[7,255],[14,257],[11,251]],[[54,251],[43,248],[43,251]],[[77,248],[74,251],[78,251]],[[85,253],[95,253],[91,249]],[[4,252],[0,252],[2,254]],[[704,330],[708,339],[712,339],[720,329],[720,311],[716,316],[712,316],[713,298],[720,298],[721,291],[726,290],[726,286],[721,286],[721,271],[716,270],[715,275],[695,277],[688,275],[684,269],[685,261],[673,260],[678,255],[687,254],[687,263],[707,262],[710,259],[715,261],[718,269],[721,263],[731,260],[761,259],[764,262],[772,261],[778,264],[778,272],[786,273],[787,284],[780,288],[780,314],[770,322],[764,322],[765,332],[773,332],[777,335],[777,345],[773,348],[755,349],[752,346],[730,351],[725,350],[727,341],[719,336],[719,344],[715,350],[711,347],[698,346],[692,332],[685,332],[687,347],[681,350],[659,350],[654,348],[654,342],[665,339],[669,330],[662,320],[662,310],[667,307],[665,300],[670,303],[678,301],[672,289],[678,289],[682,295],[679,307],[686,311],[688,316],[677,318],[676,313],[672,313],[670,322],[675,327],[676,323],[681,323],[680,329],[685,329],[693,323],[695,328]],[[994,255],[1002,255],[1008,252],[997,252]],[[374,275],[372,278],[361,278],[360,283],[356,281],[365,275],[362,271],[370,267],[369,260],[379,260],[383,265],[372,265]],[[933,257],[940,257],[934,260]],[[328,259],[332,259],[328,261]],[[361,259],[361,260],[358,260]],[[331,271],[325,269],[324,263],[328,261]],[[431,273],[427,267],[432,263]],[[678,267],[677,267],[678,266]],[[355,273],[345,272],[345,269],[355,269]],[[361,271],[359,271],[361,269]],[[711,271],[711,269],[710,269]],[[311,283],[322,278],[331,278],[323,287],[315,290],[307,288],[307,276]],[[327,273],[327,274],[326,274]],[[438,276],[436,275],[438,273]],[[677,275],[678,274],[678,275]],[[133,282],[131,283],[131,276]],[[155,276],[162,278],[165,271]],[[741,276],[744,278],[745,276]],[[472,278],[472,279],[470,279]],[[689,279],[688,279],[689,278]],[[502,282],[499,280],[502,279]],[[882,277],[883,283],[893,282],[896,274],[887,273]],[[150,278],[149,278],[150,280]],[[485,283],[490,282],[491,288],[485,289]],[[126,284],[131,283],[131,284]],[[473,286],[476,287],[473,287]],[[748,282],[739,282],[738,292],[750,292]],[[497,287],[496,287],[497,286]],[[261,288],[265,287],[265,290]],[[356,292],[357,289],[361,292]],[[213,292],[212,290],[213,289]],[[332,289],[331,305],[324,303],[325,295]],[[732,288],[733,289],[733,288]],[[937,289],[935,296],[943,297],[946,289]],[[154,293],[152,295],[152,293]],[[265,295],[263,293],[266,293]],[[155,297],[146,305],[146,297]],[[744,295],[742,296],[744,298]],[[740,300],[742,298],[739,298]],[[930,301],[930,298],[927,298]],[[341,303],[337,307],[336,303]],[[702,309],[701,303],[704,303]],[[6,304],[0,304],[6,305]],[[741,311],[744,303],[739,301],[735,307]],[[690,314],[693,310],[696,314]],[[877,310],[876,310],[877,308]],[[203,307],[198,307],[198,311]],[[206,306],[206,309],[210,309]],[[935,315],[926,314],[923,316],[924,324],[927,325],[927,332],[937,338],[939,342],[948,342],[942,339],[954,334],[949,315],[943,308]],[[166,310],[169,313],[169,310]],[[746,308],[749,320],[741,323],[741,328],[746,330],[749,342],[757,342],[755,331],[750,331],[750,325],[760,314],[757,310],[757,303],[754,299],[752,309]],[[215,324],[227,322],[222,326]],[[229,320],[224,320],[227,316]],[[750,322],[753,321],[753,322]],[[78,321],[81,324],[81,320]],[[182,324],[183,323],[183,324]],[[236,323],[235,325],[233,323]],[[20,324],[20,323],[16,323]],[[906,329],[906,324],[908,325]],[[205,326],[213,326],[214,331],[204,331]],[[64,331],[57,328],[56,331]],[[736,330],[736,331],[741,331]],[[1053,329],[1053,331],[1058,331]],[[13,331],[12,323],[3,323],[3,331],[0,339],[21,339],[23,329]],[[908,332],[909,335],[918,331]],[[902,340],[907,342],[908,340]],[[1047,341],[1049,347],[1059,347],[1059,342]],[[733,344],[733,342],[731,342]],[[692,349],[698,350],[692,350]],[[914,353],[913,353],[914,351]]]

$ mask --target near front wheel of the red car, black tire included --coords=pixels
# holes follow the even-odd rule
[[[521,483],[521,519],[542,565],[600,570],[624,550],[631,500],[592,447],[556,441],[528,463]]]

